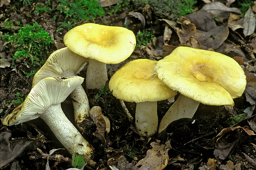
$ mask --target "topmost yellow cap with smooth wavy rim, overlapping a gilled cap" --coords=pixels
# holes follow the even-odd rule
[[[106,64],[118,64],[135,49],[136,38],[132,31],[87,23],[68,31],[64,44],[74,53]]]

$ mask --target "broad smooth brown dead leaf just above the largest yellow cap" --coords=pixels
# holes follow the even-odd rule
[[[200,42],[200,44],[206,46],[207,49],[213,48],[215,50],[224,43],[228,34],[229,30],[227,25],[221,25],[207,32],[197,30],[195,37]]]

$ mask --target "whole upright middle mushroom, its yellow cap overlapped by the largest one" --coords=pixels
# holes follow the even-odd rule
[[[135,127],[140,136],[152,136],[157,131],[157,101],[177,94],[156,76],[156,62],[148,59],[129,61],[109,81],[113,96],[127,102],[136,102]]]

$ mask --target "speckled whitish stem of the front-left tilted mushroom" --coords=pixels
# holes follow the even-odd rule
[[[40,116],[53,131],[60,143],[73,155],[92,156],[93,147],[83,138],[63,113],[60,104],[50,105]]]

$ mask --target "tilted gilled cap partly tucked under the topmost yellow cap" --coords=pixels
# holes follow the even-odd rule
[[[88,59],[73,53],[67,47],[54,51],[46,60],[43,67],[38,70],[32,82],[32,88],[46,77],[61,77],[69,70],[78,74],[86,65]]]

